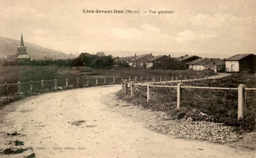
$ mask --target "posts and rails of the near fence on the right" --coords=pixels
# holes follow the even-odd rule
[[[229,76],[229,74],[222,74],[221,77]],[[220,76],[211,76],[212,78],[220,78]],[[207,77],[206,79],[208,79]],[[136,81],[136,80],[135,80]],[[198,87],[198,86],[183,86],[182,80],[180,80],[181,83],[178,83],[177,86],[160,86],[160,85],[152,85],[152,83],[148,82],[147,84],[137,84],[135,81],[131,80],[122,80],[122,93],[128,94],[128,90],[130,91],[130,98],[134,98],[135,93],[135,86],[144,86],[147,87],[147,102],[152,100],[152,87],[160,87],[160,88],[175,88],[177,90],[176,97],[177,98],[177,108],[181,107],[181,101],[182,101],[182,89],[186,88],[194,88],[194,89],[206,89],[206,90],[232,90],[238,92],[238,119],[244,118],[244,112],[246,110],[246,91],[249,90],[256,90],[256,88],[246,88],[246,85],[239,84],[238,88],[226,88],[226,87]],[[161,81],[160,81],[161,82]],[[155,83],[153,81],[153,83]],[[130,89],[128,89],[128,85],[130,85]],[[158,95],[164,95],[164,94],[158,94]],[[191,97],[184,97],[184,98],[191,98]],[[197,98],[200,99],[200,98]],[[201,99],[209,99],[209,98],[201,98]],[[215,100],[228,100],[228,101],[236,101],[232,99],[215,99]]]

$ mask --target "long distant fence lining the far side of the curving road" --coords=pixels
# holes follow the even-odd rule
[[[126,76],[126,77],[86,77],[86,78],[66,78],[66,79],[54,79],[54,80],[41,80],[41,81],[30,81],[30,82],[17,82],[17,83],[4,83],[0,84],[0,96],[8,96],[10,94],[20,94],[22,92],[42,90],[45,88],[55,88],[65,87],[65,86],[78,86],[84,87],[89,85],[99,85],[99,84],[110,84],[110,83],[120,83],[122,80],[127,79],[129,82],[134,81],[137,83],[140,81],[141,84],[148,82],[178,82],[178,81],[192,81],[192,80],[202,80],[206,78],[221,78],[226,74],[218,75],[172,75],[172,76]],[[134,79],[132,79],[134,78]]]

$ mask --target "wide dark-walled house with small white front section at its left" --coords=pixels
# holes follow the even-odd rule
[[[158,55],[146,61],[146,69],[186,70],[188,64],[166,55]]]

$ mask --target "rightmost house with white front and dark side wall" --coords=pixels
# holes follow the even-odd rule
[[[256,72],[256,55],[237,54],[225,60],[226,72]]]

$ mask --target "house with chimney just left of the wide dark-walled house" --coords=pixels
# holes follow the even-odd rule
[[[149,60],[150,58],[154,57],[151,54],[142,54],[139,56],[134,56],[133,59],[129,60],[129,65],[132,68],[140,68],[140,69],[145,69],[146,68],[146,61]]]

